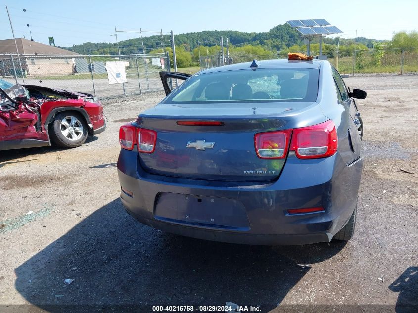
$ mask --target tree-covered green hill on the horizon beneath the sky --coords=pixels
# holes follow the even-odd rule
[[[221,36],[229,39],[230,44],[239,47],[244,45],[261,45],[263,48],[271,51],[284,50],[293,45],[301,45],[302,40],[299,33],[288,24],[280,24],[268,32],[261,33],[245,33],[238,31],[202,31],[185,34],[175,34],[174,40],[176,45],[183,45],[185,50],[191,52],[194,48],[200,45],[220,45]],[[164,46],[171,45],[168,36],[164,36]],[[206,43],[207,41],[207,43]],[[374,39],[365,37],[358,37],[357,43],[372,47]],[[204,42],[204,43],[203,43]],[[338,39],[324,38],[326,44],[337,44]],[[145,52],[155,50],[163,47],[161,43],[161,35],[154,35],[143,37]],[[341,39],[340,45],[350,45],[354,43],[354,39]],[[224,45],[226,43],[224,42]],[[75,45],[74,47],[62,47],[69,51],[80,54],[103,54],[103,55],[117,55],[118,49],[114,43],[92,43],[87,42],[82,45]],[[126,53],[142,53],[142,43],[140,38],[128,39],[119,42],[119,48],[122,54]]]

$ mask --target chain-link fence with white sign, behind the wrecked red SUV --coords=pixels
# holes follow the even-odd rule
[[[120,70],[110,73],[116,62]],[[99,98],[163,90],[160,71],[170,71],[166,53],[0,56],[0,76],[10,82],[87,92]],[[109,76],[124,83],[115,83]]]

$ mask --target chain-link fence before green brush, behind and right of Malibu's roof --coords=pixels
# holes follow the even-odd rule
[[[302,52],[303,51],[294,51]],[[315,53],[315,51],[314,51]],[[225,56],[225,65],[250,62],[253,59],[271,60],[285,59],[287,54],[272,55],[232,55]],[[340,53],[334,50],[328,53],[328,61],[331,62],[340,73],[398,73],[418,72],[418,48],[409,49],[370,49],[344,51]],[[200,58],[201,69],[222,66],[222,57],[218,55],[202,56]]]

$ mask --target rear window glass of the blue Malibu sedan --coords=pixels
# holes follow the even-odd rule
[[[317,69],[245,69],[196,74],[163,103],[315,101]]]

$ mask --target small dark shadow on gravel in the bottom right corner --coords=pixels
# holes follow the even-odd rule
[[[397,313],[418,312],[418,266],[407,268],[388,288],[399,292],[395,306]]]

